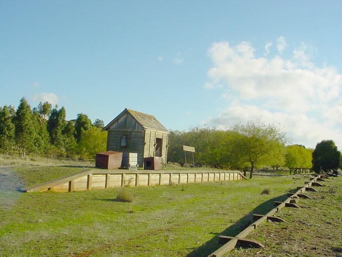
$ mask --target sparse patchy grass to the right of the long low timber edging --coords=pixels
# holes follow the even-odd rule
[[[284,208],[277,213],[286,223],[263,223],[248,238],[266,245],[263,249],[235,249],[226,257],[250,256],[342,256],[342,178],[321,182],[314,198],[298,200],[300,209]]]

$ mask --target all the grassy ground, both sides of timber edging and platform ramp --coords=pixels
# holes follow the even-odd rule
[[[12,168],[25,186],[83,169]],[[0,209],[0,257],[208,256],[220,247],[218,235],[234,236],[251,213],[268,212],[273,201],[285,199],[286,192],[308,177],[271,174],[243,181],[125,188],[132,203],[114,200],[118,188],[20,193]],[[303,208],[277,214],[287,223],[264,223],[249,236],[267,248],[239,249],[227,256],[342,256],[342,179],[325,184],[332,187],[312,193],[317,200],[299,200]],[[271,193],[261,195],[266,188]]]

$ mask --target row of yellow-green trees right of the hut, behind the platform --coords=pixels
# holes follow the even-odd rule
[[[320,150],[321,144],[326,144]],[[304,145],[289,144],[282,129],[260,121],[236,124],[226,130],[210,127],[194,127],[190,131],[171,131],[169,137],[168,161],[185,163],[182,145],[194,146],[195,164],[213,168],[238,169],[250,171],[250,178],[256,167],[271,166],[273,169],[287,167],[290,174],[328,170],[339,167],[340,152],[332,140],[323,140],[316,149],[307,149]],[[317,150],[318,149],[318,150]],[[317,161],[331,149],[326,163]],[[315,155],[316,154],[316,155]],[[335,161],[332,161],[333,156]],[[313,159],[314,157],[314,159]],[[329,159],[330,158],[330,159]],[[189,160],[192,160],[189,158]],[[337,161],[338,162],[337,162]]]

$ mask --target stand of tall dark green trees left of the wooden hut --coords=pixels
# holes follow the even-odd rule
[[[107,132],[104,122],[94,123],[85,114],[66,120],[66,110],[49,102],[31,108],[23,97],[17,109],[0,107],[0,149],[4,154],[18,151],[59,157],[94,158],[96,152],[106,150]]]

